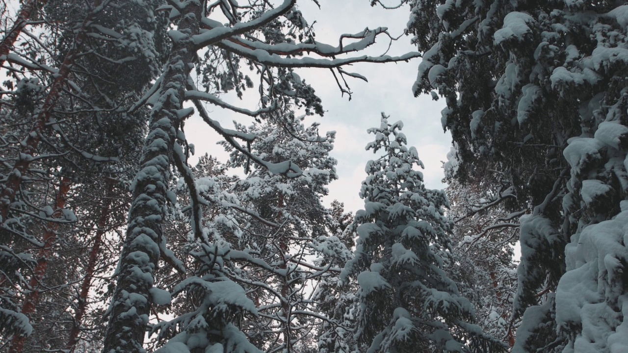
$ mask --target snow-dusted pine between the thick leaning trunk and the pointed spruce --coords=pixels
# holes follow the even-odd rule
[[[332,266],[338,270],[338,263],[315,261],[312,264],[310,259],[322,253],[323,248],[348,253],[342,244],[336,244],[335,239],[328,237],[330,212],[321,201],[327,195],[328,183],[337,178],[336,161],[329,156],[335,134],[327,133],[325,138],[319,136],[318,124],[306,127],[304,118],[295,118],[288,129],[281,124],[267,123],[243,131],[258,136],[251,145],[257,155],[266,156],[266,160],[275,163],[290,160],[303,169],[303,175],[286,178],[256,167],[234,187],[242,205],[267,221],[259,222],[254,218],[248,224],[241,221],[244,234],[248,234],[246,248],[266,263],[273,264],[276,272],[286,271],[276,279],[268,276],[270,273],[263,274],[268,276],[264,282],[280,297],[273,298],[266,293],[260,298],[261,304],[268,307],[260,312],[266,322],[259,325],[258,320],[258,328],[252,330],[259,330],[259,333],[252,335],[261,339],[261,349],[269,345],[271,350],[305,352],[313,346],[312,334],[319,325],[324,322],[335,324],[318,313],[318,308],[312,305],[311,293],[308,293],[308,288],[315,288]],[[234,165],[246,164],[237,155],[232,157]],[[271,330],[277,326],[281,329]],[[264,334],[271,331],[277,333]]]

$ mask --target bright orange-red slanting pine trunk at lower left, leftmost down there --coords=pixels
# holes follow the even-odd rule
[[[55,197],[55,211],[52,214],[53,218],[63,217],[62,209],[65,207],[65,200],[67,199],[67,194],[70,191],[70,185],[71,183],[68,178],[61,178],[59,192],[57,193],[57,197]],[[40,281],[46,274],[46,269],[48,268],[48,258],[50,258],[52,253],[53,243],[55,242],[55,239],[57,239],[58,225],[58,223],[49,222],[46,227],[46,231],[44,232],[44,246],[38,253],[37,265],[33,270],[33,277],[31,277],[29,282],[30,292],[28,292],[24,297],[24,303],[21,310],[21,313],[29,318],[33,315],[33,312],[35,312],[35,307],[39,301],[40,291],[38,286],[40,285]],[[11,340],[11,347],[9,347],[9,353],[21,352],[24,348],[25,341],[26,337],[24,335],[14,335]]]

